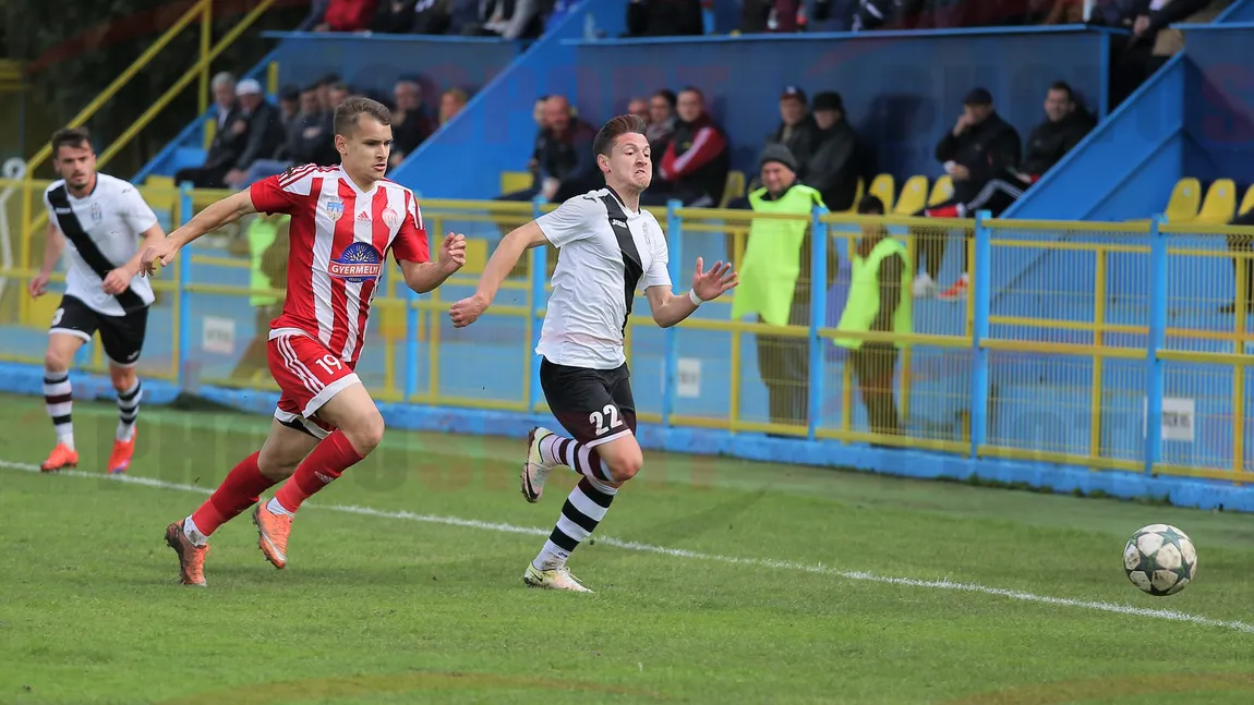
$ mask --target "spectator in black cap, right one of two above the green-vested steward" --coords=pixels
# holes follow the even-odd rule
[[[833,212],[849,210],[858,197],[858,179],[870,180],[865,167],[865,150],[849,120],[839,93],[824,91],[814,96],[814,145],[803,167],[805,183],[823,194]]]

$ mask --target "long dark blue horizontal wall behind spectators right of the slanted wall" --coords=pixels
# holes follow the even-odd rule
[[[1041,103],[1055,80],[1071,83],[1096,109],[1106,38],[1016,29],[577,43],[577,95],[582,113],[606,119],[632,96],[695,85],[731,138],[735,168],[756,173],[780,121],[782,88],[836,90],[880,172],[935,177],[935,143],[976,85],[993,94],[1022,138],[1045,118]]]

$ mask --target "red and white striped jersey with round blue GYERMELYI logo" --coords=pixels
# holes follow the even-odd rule
[[[271,337],[295,328],[355,364],[389,250],[398,263],[430,259],[414,193],[387,179],[362,192],[341,167],[310,164],[255,183],[250,195],[257,210],[292,217],[287,298]]]

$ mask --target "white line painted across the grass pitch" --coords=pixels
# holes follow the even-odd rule
[[[8,470],[20,470],[24,472],[39,472],[39,466],[21,462],[10,462],[0,460],[0,468]],[[194,485],[183,485],[179,482],[166,482],[162,480],[153,480],[149,477],[138,477],[133,475],[102,475],[97,472],[82,472],[82,471],[60,471],[56,475],[66,477],[78,477],[87,480],[105,480],[110,482],[122,482],[125,485],[140,485],[144,487],[157,487],[161,490],[178,490],[182,492],[194,492],[198,495],[208,495],[212,490],[204,487],[197,487]],[[455,516],[439,516],[439,515],[418,515],[413,512],[391,512],[384,510],[375,510],[371,507],[355,507],[347,505],[308,505],[311,508],[316,507],[324,511],[352,513],[374,516],[380,518],[391,518],[401,521],[418,521],[423,523],[441,523],[445,526],[458,526],[461,528],[478,528],[483,531],[495,531],[498,533],[522,533],[527,536],[548,536],[551,530],[548,528],[535,528],[529,526],[515,526],[512,523],[494,523],[489,521],[479,521],[473,518],[461,518]],[[607,536],[596,537],[596,542],[602,546],[614,546],[617,548],[623,548],[627,551],[640,551],[645,553],[658,553],[663,556],[671,556],[676,558],[691,558],[696,561],[711,561],[719,563],[752,566],[752,567],[766,567],[785,571],[798,571],[808,572],[814,575],[826,575],[831,577],[840,577],[844,580],[858,580],[864,582],[878,582],[884,585],[904,585],[909,587],[928,587],[933,590],[954,590],[958,592],[977,592],[981,595],[992,595],[994,597],[1006,597],[1009,600],[1018,600],[1021,602],[1037,602],[1041,605],[1055,605],[1060,607],[1075,607],[1080,610],[1095,610],[1099,612],[1111,612],[1116,615],[1127,615],[1135,617],[1146,617],[1154,620],[1167,620],[1176,622],[1190,622],[1203,626],[1216,626],[1221,629],[1243,631],[1246,634],[1254,634],[1254,625],[1240,622],[1240,621],[1224,621],[1214,620],[1210,617],[1204,617],[1200,615],[1190,615],[1188,612],[1178,612],[1175,610],[1154,610],[1149,607],[1132,607],[1130,605],[1116,605],[1114,602],[1093,602],[1087,600],[1071,600],[1068,597],[1050,597],[1047,595],[1035,595],[1032,592],[1022,592],[1018,590],[1004,590],[1001,587],[987,587],[984,585],[977,585],[973,582],[951,582],[949,580],[917,580],[913,577],[893,577],[887,575],[875,575],[863,571],[843,571],[824,566],[821,563],[798,563],[794,561],[776,561],[771,558],[740,558],[736,556],[721,556],[717,553],[701,553],[697,551],[688,551],[685,548],[667,548],[665,546],[653,546],[650,543],[638,543],[636,541],[621,541],[618,538],[611,538]]]

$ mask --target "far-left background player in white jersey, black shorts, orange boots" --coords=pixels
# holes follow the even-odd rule
[[[44,296],[63,253],[69,270],[44,353],[44,406],[56,430],[56,446],[40,468],[53,472],[78,466],[69,368],[74,354],[99,331],[119,414],[107,470],[125,472],[135,450],[135,418],[143,398],[135,363],[153,303],[152,287],[139,277],[139,240],[154,243],[166,233],[135,187],[95,170],[87,129],[53,134],[53,167],[61,178],[44,192],[44,264],[30,280],[30,296]]]

